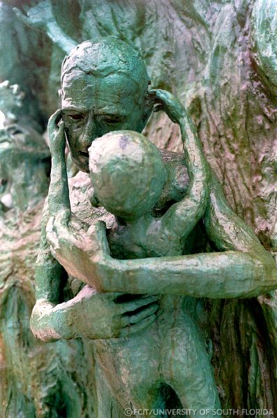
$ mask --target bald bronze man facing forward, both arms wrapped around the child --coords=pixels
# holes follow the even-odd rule
[[[148,84],[140,56],[124,42],[107,38],[96,44],[84,42],[73,49],[63,63],[61,100],[70,153],[80,169],[88,169],[87,149],[94,138],[110,130],[141,131],[154,103],[158,103],[158,109],[165,110],[174,123],[179,123],[182,133],[188,131],[188,134],[195,135],[186,111],[179,102],[163,91],[147,92]],[[58,132],[57,126],[50,124],[50,133],[55,134],[55,130]],[[165,155],[165,162],[167,158],[168,155]],[[182,165],[180,159],[178,164]],[[174,167],[168,167],[168,170],[171,176],[176,176]],[[80,192],[86,187],[84,182],[78,186]],[[59,187],[66,185],[57,185],[57,193],[61,191]],[[174,201],[172,197],[178,200],[180,189],[172,191],[172,188],[167,184],[167,195],[171,198],[164,198],[164,204],[167,200]],[[183,192],[185,190],[186,187]],[[103,210],[91,212],[89,216],[86,212],[89,205],[82,207],[85,199],[79,196],[79,202],[74,201],[75,191],[76,185],[71,186],[70,199],[77,218],[91,222],[92,218],[102,217],[112,222],[110,215]],[[62,215],[56,219],[52,217],[52,222],[48,222],[47,239],[52,251],[68,274],[87,283],[92,282],[93,274],[94,282],[97,280],[98,287],[103,291],[248,297],[277,286],[273,259],[253,232],[229,208],[214,176],[203,217],[204,230],[211,245],[222,252],[195,254],[199,250],[192,237],[185,256],[117,261],[108,254],[105,229],[100,227],[93,231],[96,235],[91,245],[93,234],[86,240],[86,231],[80,229],[75,218],[70,221],[70,212],[63,211],[63,208],[56,209],[61,210]],[[53,215],[54,208],[50,208],[50,212]],[[47,220],[46,215],[45,224]],[[84,288],[75,299],[59,304],[59,273],[61,266],[50,254],[44,231],[38,257],[37,303],[33,310],[32,328],[45,341],[75,336],[89,336],[92,339],[126,336],[132,332],[132,328],[133,331],[141,330],[154,320],[152,309],[149,316],[148,304],[153,306],[155,297],[138,298],[120,304],[115,295],[103,295]],[[121,309],[114,321],[116,327],[107,318],[103,320],[103,311],[99,315],[107,300]],[[139,314],[134,312],[142,306],[144,316],[141,314],[143,310]],[[130,311],[133,312],[130,314]],[[122,328],[122,324],[131,326]]]

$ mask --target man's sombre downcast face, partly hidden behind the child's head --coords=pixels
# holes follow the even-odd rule
[[[147,109],[137,84],[124,75],[93,77],[75,70],[62,86],[62,114],[73,162],[89,171],[93,139],[114,130],[142,132],[151,109]]]

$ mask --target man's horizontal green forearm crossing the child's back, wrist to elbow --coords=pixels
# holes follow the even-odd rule
[[[254,297],[277,288],[274,262],[253,252],[226,251],[134,261],[105,259],[103,291],[192,297]],[[103,275],[105,274],[105,276]]]

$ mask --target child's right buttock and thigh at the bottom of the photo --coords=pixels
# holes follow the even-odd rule
[[[216,416],[214,411],[220,408],[216,382],[200,329],[190,314],[180,312],[168,327],[162,358],[163,378],[182,407],[195,410],[191,417]]]

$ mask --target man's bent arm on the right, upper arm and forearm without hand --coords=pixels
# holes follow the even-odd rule
[[[98,263],[103,291],[232,298],[277,288],[274,259],[232,212],[215,176],[204,225],[215,247],[224,252],[126,261],[105,255]],[[102,245],[108,254],[104,233]]]

